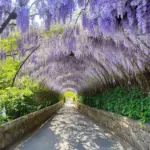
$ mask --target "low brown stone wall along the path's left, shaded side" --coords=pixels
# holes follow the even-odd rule
[[[26,133],[49,119],[63,105],[63,101],[33,112],[0,126],[0,150],[7,148]]]

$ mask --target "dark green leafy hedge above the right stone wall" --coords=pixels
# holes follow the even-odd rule
[[[96,96],[80,96],[79,102],[142,122],[150,121],[150,95],[135,87],[116,87]]]

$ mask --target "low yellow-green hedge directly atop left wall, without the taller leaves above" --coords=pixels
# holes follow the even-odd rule
[[[46,89],[38,89],[36,92],[17,87],[0,90],[0,112],[5,107],[7,114],[3,117],[0,113],[0,124],[53,105],[59,100],[58,93]]]

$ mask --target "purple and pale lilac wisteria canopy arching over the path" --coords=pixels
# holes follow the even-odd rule
[[[59,92],[80,92],[106,85],[138,83],[145,85],[149,72],[150,1],[149,0],[0,0],[0,23],[9,14],[17,14],[19,58],[32,48],[38,51],[26,61],[19,76],[44,80]],[[42,25],[31,32],[31,18],[38,15]],[[35,20],[36,22],[36,20]],[[44,23],[44,28],[43,28]],[[41,33],[64,31],[53,36]],[[42,28],[42,31],[38,31]],[[15,52],[16,53],[16,52]],[[7,54],[0,51],[1,60]],[[19,77],[18,76],[18,77]],[[141,82],[142,80],[142,82]]]

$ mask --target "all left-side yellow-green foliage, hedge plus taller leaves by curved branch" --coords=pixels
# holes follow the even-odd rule
[[[28,77],[17,79],[11,87],[19,62],[8,58],[0,62],[0,124],[57,103],[60,95]],[[7,116],[2,116],[2,109]]]

